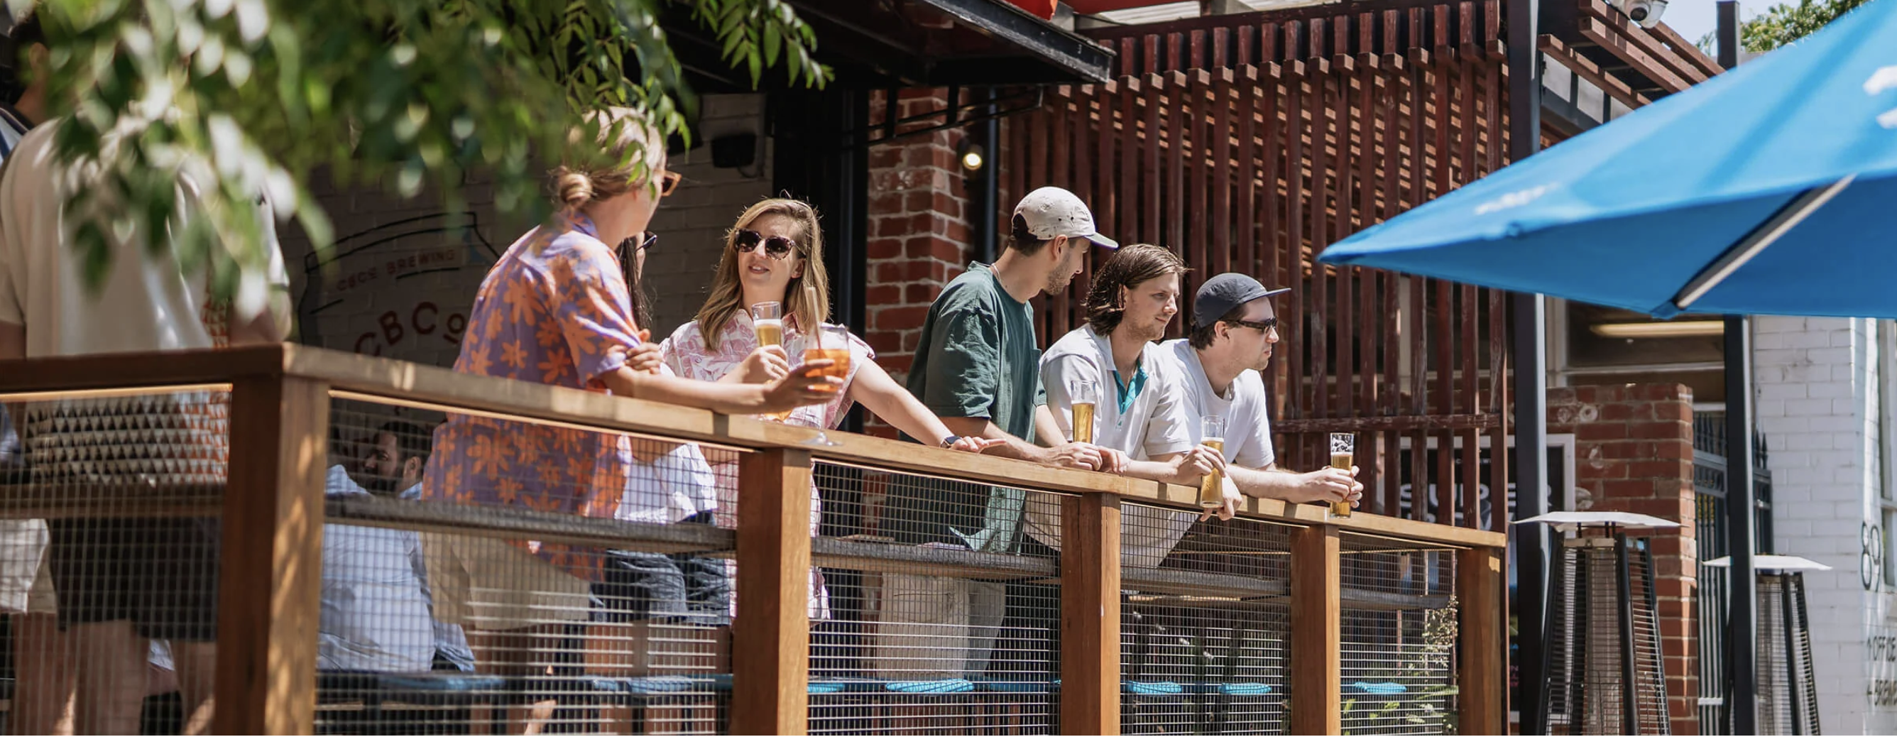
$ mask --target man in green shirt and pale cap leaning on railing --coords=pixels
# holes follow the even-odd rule
[[[1004,441],[988,454],[1119,473],[1125,456],[1089,443],[1066,443],[1041,389],[1040,344],[1034,338],[1034,294],[1057,294],[1079,274],[1091,245],[1117,249],[1100,236],[1093,213],[1074,192],[1043,186],[1015,205],[1007,251],[994,266],[969,264],[948,283],[922,323],[909,368],[909,391],[954,435]],[[952,443],[952,441],[948,441]],[[890,490],[890,530],[909,543],[966,545],[985,553],[1059,557],[1021,536],[1026,490],[981,484],[897,484]],[[928,486],[928,488],[924,488]],[[988,669],[1004,583],[969,581],[969,644],[964,672]],[[1032,589],[1032,591],[1030,591]],[[1009,671],[1051,667],[1059,631],[1059,596],[1051,587],[1005,585],[1005,612],[1026,634]],[[1049,627],[1053,625],[1053,627]],[[1032,629],[1032,631],[1030,631]],[[1053,650],[1047,650],[1053,646]],[[1030,650],[1032,653],[1022,653]],[[1024,665],[1036,663],[1036,665]]]

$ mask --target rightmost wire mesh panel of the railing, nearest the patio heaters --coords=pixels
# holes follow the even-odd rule
[[[1343,731],[1455,733],[1455,549],[1343,534],[1341,566]]]

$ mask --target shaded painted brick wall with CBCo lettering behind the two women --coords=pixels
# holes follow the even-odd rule
[[[653,218],[658,247],[649,253],[645,285],[653,296],[654,338],[691,319],[704,302],[725,230],[747,205],[770,196],[768,139],[757,161],[742,173],[713,167],[709,150],[717,135],[749,131],[763,137],[763,95],[706,95],[700,103],[700,135],[692,141],[698,148],[670,161],[685,180]],[[459,325],[465,325],[480,279],[493,256],[531,228],[503,222],[491,186],[478,179],[469,184],[465,196],[472,228],[448,228],[436,198],[404,201],[376,190],[313,184],[336,224],[340,270],[321,279],[309,239],[294,228],[283,234],[302,340],[451,365],[459,351]],[[423,255],[442,258],[423,264]]]

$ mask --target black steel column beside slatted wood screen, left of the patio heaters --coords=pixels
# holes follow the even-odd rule
[[[1508,0],[1508,158],[1521,161],[1540,150],[1540,0]],[[1548,511],[1548,300],[1510,294],[1514,315],[1514,429],[1516,519]],[[1516,524],[1516,615],[1519,634],[1521,733],[1548,733],[1542,703],[1548,642],[1548,526]]]

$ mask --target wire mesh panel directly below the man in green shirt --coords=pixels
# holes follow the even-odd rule
[[[821,462],[814,479],[810,731],[1055,731],[1060,558],[1043,522],[1062,496]]]

